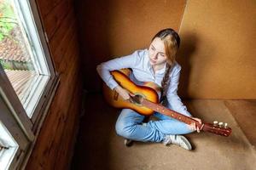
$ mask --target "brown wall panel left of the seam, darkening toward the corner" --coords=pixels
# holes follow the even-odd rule
[[[160,29],[179,29],[185,0],[78,0],[79,39],[84,59],[84,88],[101,90],[96,65],[148,48]]]

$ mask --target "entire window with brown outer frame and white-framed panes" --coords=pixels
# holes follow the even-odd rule
[[[0,169],[25,164],[55,93],[45,36],[34,1],[0,1]]]

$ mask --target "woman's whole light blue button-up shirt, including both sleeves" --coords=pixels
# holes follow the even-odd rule
[[[124,57],[116,58],[103,62],[101,65],[97,65],[97,71],[102,77],[102,80],[106,82],[109,88],[113,89],[118,86],[118,83],[114,81],[109,71],[119,70],[124,68],[131,68],[133,82],[154,82],[161,87],[161,82],[165,76],[166,67],[159,71],[153,71],[152,66],[149,63],[148,49],[137,50],[133,54],[126,55]],[[182,113],[185,116],[191,116],[185,105],[183,105],[181,99],[177,95],[177,85],[180,76],[181,66],[175,62],[170,73],[170,84],[167,89],[167,107],[173,111]]]

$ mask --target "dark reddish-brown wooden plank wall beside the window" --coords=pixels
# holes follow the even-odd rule
[[[37,0],[61,82],[26,169],[67,169],[78,129],[82,80],[73,0]]]

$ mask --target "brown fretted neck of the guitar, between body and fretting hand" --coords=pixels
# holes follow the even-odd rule
[[[143,99],[142,103],[143,106],[148,107],[149,109],[152,109],[153,111],[157,111],[161,114],[164,114],[166,116],[171,116],[174,119],[177,119],[178,121],[184,122],[186,124],[192,124],[195,123],[199,128],[201,128],[203,126],[203,124],[195,121],[194,119],[192,119],[189,116],[184,116],[180,113],[178,113],[177,111],[172,111],[170,109],[167,109],[166,107],[164,107],[163,105],[160,104],[155,104],[147,99]]]

